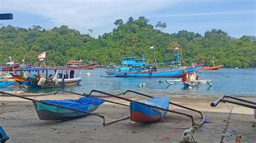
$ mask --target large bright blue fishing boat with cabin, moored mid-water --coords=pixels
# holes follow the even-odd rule
[[[201,67],[201,64],[197,64],[181,68],[179,52],[177,54],[174,53],[174,56],[177,59],[176,61],[166,62],[173,64],[173,69],[171,70],[160,71],[157,65],[166,63],[147,64],[143,56],[142,59],[136,59],[136,57],[122,58],[122,66],[114,68],[113,71],[106,71],[106,74],[114,75],[115,77],[183,77]],[[176,68],[176,63],[178,63],[178,68]]]

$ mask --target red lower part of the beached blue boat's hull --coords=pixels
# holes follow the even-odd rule
[[[138,123],[145,123],[145,122],[151,122],[151,121],[156,121],[161,119],[161,116],[157,117],[152,117],[152,116],[147,116],[143,113],[140,112],[131,112],[131,120],[136,121]]]

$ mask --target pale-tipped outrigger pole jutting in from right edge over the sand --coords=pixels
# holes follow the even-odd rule
[[[245,99],[240,99],[240,98],[236,98],[236,97],[232,97],[232,96],[227,96],[227,95],[224,95],[223,97],[220,97],[219,99],[217,99],[216,101],[212,102],[211,103],[211,106],[212,107],[215,107],[219,104],[219,102],[223,102],[223,103],[232,103],[232,104],[237,104],[237,105],[240,105],[240,106],[245,106],[247,108],[252,108],[252,109],[256,109],[256,106],[253,106],[253,105],[248,105],[248,104],[244,104],[244,103],[239,103],[239,102],[234,102],[234,101],[229,101],[229,100],[226,100],[224,98],[231,98],[231,99],[235,99],[237,101],[241,101],[241,102],[245,102],[245,103],[249,103],[249,104],[253,104],[253,105],[256,105],[255,102],[251,102],[251,101],[246,101]]]

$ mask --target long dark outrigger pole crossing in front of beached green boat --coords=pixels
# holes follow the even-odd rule
[[[75,111],[75,112],[80,112],[80,113],[85,113],[85,114],[99,116],[100,118],[103,118],[103,124],[105,124],[105,117],[102,116],[102,115],[98,115],[96,113],[86,112],[86,111],[77,110],[77,109],[73,109],[73,108],[68,108],[68,107],[65,107],[65,106],[57,105],[57,104],[52,104],[52,103],[48,103],[48,102],[38,101],[36,99],[31,99],[31,98],[28,98],[28,97],[23,97],[23,96],[19,96],[19,95],[10,94],[8,92],[0,91],[0,93],[1,94],[6,94],[6,95],[10,95],[10,96],[14,96],[14,97],[18,97],[18,98],[22,98],[22,99],[26,99],[26,100],[29,100],[29,101],[32,101],[32,102],[39,102],[39,103],[42,103],[42,104],[45,104],[45,105],[51,105],[51,106],[56,106],[58,108],[72,110],[72,111]]]

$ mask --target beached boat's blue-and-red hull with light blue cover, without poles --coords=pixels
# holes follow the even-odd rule
[[[160,108],[169,109],[169,97],[154,97],[146,101],[139,101],[145,104],[158,106]],[[131,120],[138,123],[147,123],[162,119],[166,115],[166,111],[150,108],[136,102],[130,102]]]

